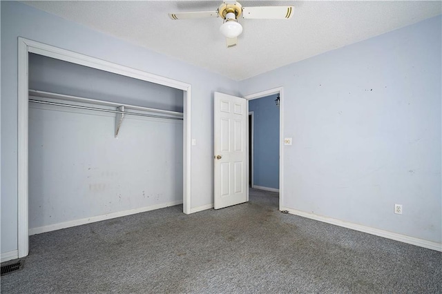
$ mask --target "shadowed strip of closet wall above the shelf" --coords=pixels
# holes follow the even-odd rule
[[[64,95],[159,108],[183,110],[183,91],[79,66],[42,55],[29,55],[29,88]]]

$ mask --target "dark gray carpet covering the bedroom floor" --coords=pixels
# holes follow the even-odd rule
[[[442,253],[278,211],[278,194],[30,237],[2,293],[442,293]]]

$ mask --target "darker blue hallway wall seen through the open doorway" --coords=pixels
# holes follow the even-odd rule
[[[279,188],[278,95],[249,100],[253,111],[253,186]]]

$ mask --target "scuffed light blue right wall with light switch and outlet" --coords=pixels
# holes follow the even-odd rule
[[[284,87],[282,206],[442,241],[441,28],[434,17],[240,82],[242,95]]]

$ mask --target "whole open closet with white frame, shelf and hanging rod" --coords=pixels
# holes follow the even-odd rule
[[[19,257],[28,235],[183,204],[191,86],[19,38]]]

